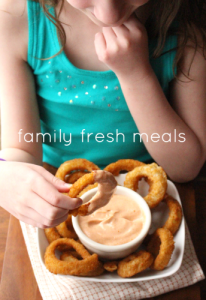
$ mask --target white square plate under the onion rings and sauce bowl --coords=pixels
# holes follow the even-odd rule
[[[125,174],[120,174],[116,177],[118,184],[124,185]],[[167,193],[173,196],[177,201],[181,204],[180,197],[175,185],[171,181],[167,181]],[[145,196],[148,191],[148,184],[142,180],[139,182],[138,193],[142,196]],[[168,217],[169,209],[165,203],[160,203],[158,207],[152,209],[152,224],[149,233],[153,233],[157,228],[162,227]],[[178,232],[174,237],[175,241],[175,249],[172,254],[171,260],[168,266],[162,271],[155,271],[151,269],[147,269],[136,276],[131,278],[121,278],[117,275],[117,273],[105,273],[103,275],[97,277],[78,277],[78,276],[70,276],[70,275],[56,275],[57,279],[65,285],[66,278],[71,278],[75,280],[83,280],[83,281],[96,281],[96,282],[136,282],[136,281],[144,281],[144,280],[152,280],[163,278],[167,276],[171,276],[175,272],[177,272],[181,266],[184,247],[185,247],[185,222],[184,217],[182,219],[182,223]],[[42,265],[44,265],[44,253],[46,251],[46,247],[48,246],[48,241],[44,234],[44,230],[38,228],[37,230],[37,243],[38,243],[38,252]]]

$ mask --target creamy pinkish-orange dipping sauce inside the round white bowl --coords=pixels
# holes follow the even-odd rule
[[[115,246],[128,243],[140,234],[145,215],[133,199],[115,194],[104,207],[90,215],[79,216],[78,221],[91,240]]]

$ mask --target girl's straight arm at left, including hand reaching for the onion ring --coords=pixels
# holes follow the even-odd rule
[[[68,185],[35,165],[42,162],[41,143],[19,142],[20,129],[40,132],[33,74],[26,62],[25,22],[20,14],[0,11],[1,155],[10,160],[0,162],[0,205],[20,220],[46,228],[65,221],[82,201],[63,195]]]

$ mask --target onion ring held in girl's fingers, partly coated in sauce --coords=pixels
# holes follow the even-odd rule
[[[72,185],[69,196],[71,198],[77,197],[87,185],[94,184],[95,182],[98,183],[98,190],[94,197],[89,202],[69,211],[69,214],[73,216],[86,216],[109,202],[115,191],[117,182],[110,172],[102,170],[93,171],[78,179]]]

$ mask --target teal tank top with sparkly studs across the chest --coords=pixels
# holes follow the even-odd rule
[[[43,161],[59,167],[66,160],[86,158],[101,168],[118,159],[151,159],[138,136],[120,83],[113,71],[76,68],[60,50],[54,24],[39,3],[28,0],[28,64],[36,81],[43,136]],[[55,15],[55,10],[50,8]],[[149,41],[150,63],[169,97],[177,37],[166,40],[164,55],[152,59],[156,41]],[[83,49],[82,49],[83,51]],[[147,99],[145,99],[147,101]],[[88,138],[88,134],[90,134]]]

